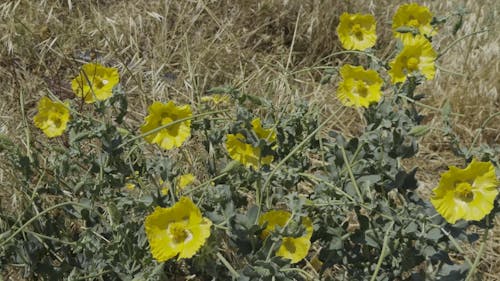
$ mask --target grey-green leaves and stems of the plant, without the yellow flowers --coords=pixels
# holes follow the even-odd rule
[[[329,80],[335,73],[327,75]],[[145,144],[124,121],[124,89],[86,107],[89,112],[73,114],[61,145],[33,142],[28,154],[1,136],[0,152],[17,171],[26,203],[23,210],[2,211],[7,227],[0,234],[0,264],[19,267],[34,280],[170,280],[189,274],[201,280],[303,280],[315,276],[302,269],[303,261],[290,264],[274,253],[283,237],[304,234],[297,222],[309,217],[322,262],[316,278],[461,280],[472,264],[451,254],[460,254],[457,243],[479,239],[469,225],[492,227],[498,201],[481,222],[449,225],[419,196],[418,167],[405,170],[401,160],[415,156],[429,130],[415,103],[425,97],[416,93],[421,83],[422,77],[410,76],[394,86],[364,111],[367,125],[350,139],[337,131],[320,137],[322,120],[306,101],[276,110],[233,87],[209,91],[231,95],[232,120],[193,120],[207,177],[186,194],[216,227],[194,258],[165,263],[152,259],[143,222],[154,207],[176,202],[175,190],[162,194],[159,180],[173,182],[183,163]],[[448,122],[450,112],[443,109]],[[252,138],[256,116],[275,127],[275,144]],[[223,145],[228,133],[247,136],[264,155],[274,156],[273,164],[255,170],[231,161]],[[467,149],[451,126],[445,134],[465,160],[499,163],[498,146]],[[135,185],[133,192],[124,190],[127,183]],[[289,210],[292,223],[261,239],[259,216],[273,209]]]

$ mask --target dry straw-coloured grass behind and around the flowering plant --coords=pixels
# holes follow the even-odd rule
[[[489,30],[454,45],[439,60],[442,70],[436,79],[421,89],[428,97],[425,103],[440,107],[449,100],[453,111],[464,114],[454,122],[462,140],[470,144],[482,122],[500,106],[500,42],[494,25],[498,1],[420,2],[435,15],[448,15],[461,5],[470,12],[457,36],[452,36],[451,25],[440,31],[434,41],[438,50],[460,36]],[[307,98],[328,114],[340,107],[334,97],[336,84],[319,86],[317,67],[352,59],[330,56],[341,49],[335,35],[339,14],[373,13],[379,22],[378,55],[387,57],[394,46],[389,21],[403,1],[358,3],[365,4],[329,0],[6,1],[0,4],[0,132],[29,149],[28,140],[40,136],[29,121],[38,99],[47,91],[71,97],[69,81],[80,64],[92,58],[120,69],[131,101],[128,122],[132,126],[142,122],[147,105],[154,100],[196,105],[206,90],[221,85],[270,98],[278,108],[288,110],[293,110],[288,105],[294,99]],[[432,188],[447,165],[460,161],[438,130],[440,113],[424,112],[436,130],[423,139],[418,157],[406,164],[419,166],[424,187]],[[359,120],[358,112],[348,110],[331,128],[354,134]],[[482,130],[479,143],[499,142],[496,118]],[[9,190],[14,185],[9,171],[0,169],[2,206],[12,202]],[[495,233],[499,233],[500,221],[496,225]],[[500,274],[496,236],[488,241],[482,280],[497,280]],[[469,251],[474,256],[475,250]]]

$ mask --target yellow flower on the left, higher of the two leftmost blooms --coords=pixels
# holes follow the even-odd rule
[[[80,74],[71,81],[71,88],[75,95],[82,97],[86,103],[93,103],[111,97],[113,87],[119,80],[116,68],[87,63],[82,66]]]

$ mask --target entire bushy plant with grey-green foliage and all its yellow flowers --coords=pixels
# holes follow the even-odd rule
[[[443,173],[430,199],[417,167],[401,164],[429,130],[416,89],[434,78],[442,23],[401,6],[385,61],[371,49],[375,18],[341,15],[343,53],[359,57],[322,82],[338,73],[338,99],[362,112],[352,138],[320,134],[338,112],[320,120],[305,101],[280,110],[230,86],[196,106],[155,101],[135,128],[118,69],[83,65],[77,98],[49,93],[33,119],[63,142],[26,152],[0,138],[29,198],[21,216],[0,217],[0,264],[37,280],[470,280],[481,252],[456,257],[480,232],[484,243],[500,212],[499,160],[487,153],[498,148],[457,142],[468,165]],[[204,171],[182,153],[195,140]]]

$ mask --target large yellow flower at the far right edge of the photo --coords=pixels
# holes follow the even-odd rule
[[[493,164],[473,159],[465,169],[450,166],[441,175],[431,203],[449,223],[479,221],[493,209],[498,185]]]

